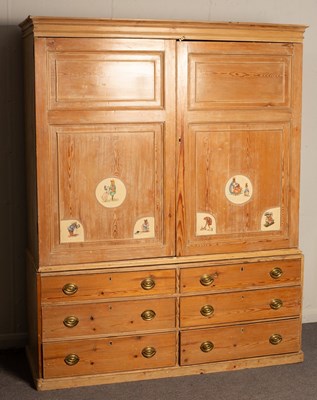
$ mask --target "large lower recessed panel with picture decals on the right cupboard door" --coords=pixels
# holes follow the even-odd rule
[[[189,127],[186,164],[193,167],[187,179],[193,189],[188,201],[196,217],[191,221],[194,236],[283,230],[288,136],[287,126]],[[263,216],[273,208],[279,211],[266,226]],[[213,217],[211,226],[206,224],[206,216],[200,217],[208,213]]]

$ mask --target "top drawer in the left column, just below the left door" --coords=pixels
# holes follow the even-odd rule
[[[42,303],[175,293],[175,270],[44,276]]]

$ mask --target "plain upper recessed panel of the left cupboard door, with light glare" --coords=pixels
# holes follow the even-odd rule
[[[164,43],[53,40],[50,109],[163,108]]]

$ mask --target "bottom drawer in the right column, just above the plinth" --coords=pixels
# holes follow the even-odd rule
[[[181,333],[181,365],[294,353],[300,350],[300,320],[244,324]]]

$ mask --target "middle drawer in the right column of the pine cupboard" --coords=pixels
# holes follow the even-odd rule
[[[297,316],[301,288],[286,287],[183,297],[180,326],[204,326]]]

